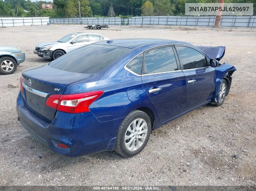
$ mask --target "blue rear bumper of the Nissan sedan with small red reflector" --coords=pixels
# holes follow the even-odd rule
[[[19,93],[16,110],[22,126],[46,147],[68,157],[76,157],[100,151],[112,151],[119,125],[123,119],[100,123],[91,112],[81,115],[57,111],[51,123],[47,123],[23,104]],[[57,143],[68,146],[60,148]]]

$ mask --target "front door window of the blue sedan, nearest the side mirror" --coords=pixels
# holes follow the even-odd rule
[[[205,56],[197,50],[186,46],[178,46],[178,51],[181,55],[184,70],[208,66]]]

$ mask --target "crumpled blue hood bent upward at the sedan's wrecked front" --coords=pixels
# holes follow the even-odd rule
[[[202,50],[210,59],[220,61],[225,54],[225,46],[197,46]]]

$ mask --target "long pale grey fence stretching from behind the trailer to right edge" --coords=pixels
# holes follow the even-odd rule
[[[79,18],[51,18],[54,24],[80,24]],[[182,26],[213,26],[215,16],[179,17],[154,16],[122,18],[81,18],[81,24],[108,25],[182,25]],[[223,16],[220,25],[223,27],[256,27],[256,16]]]

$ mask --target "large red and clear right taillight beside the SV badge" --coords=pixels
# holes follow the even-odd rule
[[[97,100],[104,91],[92,91],[81,94],[51,95],[46,101],[46,105],[66,113],[88,112],[89,106]]]

